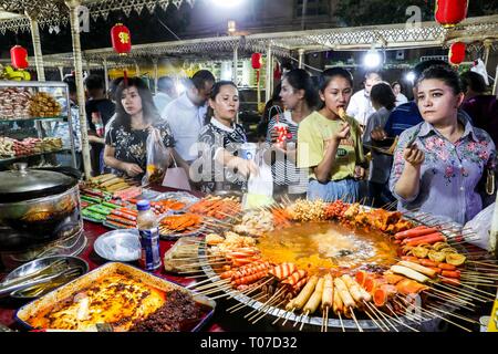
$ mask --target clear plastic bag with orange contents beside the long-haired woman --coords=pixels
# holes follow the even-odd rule
[[[164,145],[160,133],[156,128],[152,128],[147,137],[147,166],[142,186],[163,183],[166,169],[168,168],[169,150]]]

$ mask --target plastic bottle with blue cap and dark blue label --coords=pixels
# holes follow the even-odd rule
[[[138,209],[136,226],[142,244],[141,267],[147,271],[153,271],[162,264],[159,254],[159,227],[148,200],[138,201],[136,207]]]

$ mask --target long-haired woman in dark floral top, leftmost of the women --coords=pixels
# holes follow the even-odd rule
[[[116,90],[116,114],[105,128],[104,163],[116,175],[142,179],[147,163],[146,142],[156,128],[178,165],[183,159],[176,154],[169,125],[162,121],[151,91],[139,77],[122,81]],[[168,164],[172,163],[170,155]]]

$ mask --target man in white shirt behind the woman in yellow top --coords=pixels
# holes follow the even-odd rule
[[[369,72],[365,74],[365,81],[363,82],[365,88],[356,92],[347,105],[346,113],[349,116],[354,117],[361,126],[366,125],[366,121],[375,113],[375,108],[370,101],[370,91],[372,86],[382,81],[382,76],[377,72]]]

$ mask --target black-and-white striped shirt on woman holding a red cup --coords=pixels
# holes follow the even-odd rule
[[[277,116],[274,115],[268,124],[267,143],[271,145],[271,132],[277,124]],[[292,121],[290,111],[286,111],[282,115],[279,115],[279,123],[286,123],[289,126],[289,133],[292,138],[287,143],[298,143],[298,128],[299,124]],[[295,146],[295,145],[294,145]],[[308,189],[308,170],[304,168],[298,168],[295,163],[288,159],[287,156],[282,156],[277,150],[276,162],[271,165],[271,174],[273,176],[273,183],[279,186],[289,186],[289,194],[302,194]]]

